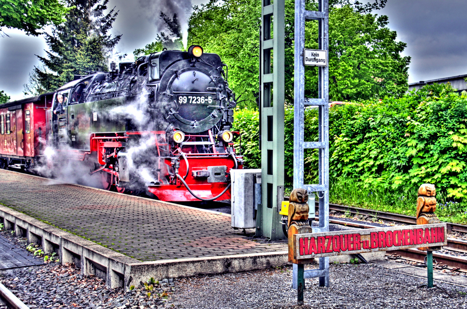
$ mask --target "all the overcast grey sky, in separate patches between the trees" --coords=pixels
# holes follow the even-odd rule
[[[207,0],[191,2],[198,5]],[[132,56],[134,49],[153,42],[160,32],[161,9],[170,6],[184,14],[187,4],[189,0],[110,0],[109,7],[120,10],[113,34],[123,35],[114,52]],[[374,12],[388,15],[397,40],[407,43],[403,56],[412,57],[409,83],[467,74],[466,9],[466,0],[388,0],[384,9]],[[45,56],[47,45],[42,36],[4,30],[10,37],[0,37],[0,90],[21,99],[28,74],[39,64],[35,54]]]

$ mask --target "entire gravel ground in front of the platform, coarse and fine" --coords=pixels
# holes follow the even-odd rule
[[[14,238],[8,232],[1,233],[14,245],[27,246],[25,239]],[[306,279],[305,305],[298,307],[297,291],[291,288],[291,270],[291,267],[280,267],[236,274],[167,278],[148,282],[147,287],[138,284],[131,287],[131,291],[128,288],[108,289],[102,279],[83,276],[73,264],[56,262],[4,270],[0,272],[0,279],[31,309],[467,309],[466,287],[435,281],[437,287],[427,289],[421,286],[426,283],[425,278],[375,264],[346,263],[330,266],[329,288],[318,287],[318,279]]]

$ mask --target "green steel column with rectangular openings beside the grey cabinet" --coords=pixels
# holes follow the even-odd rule
[[[279,215],[284,190],[284,19],[284,0],[274,0],[272,4],[271,0],[262,0],[262,211],[257,213],[261,218],[257,216],[256,235],[270,239],[285,238]]]

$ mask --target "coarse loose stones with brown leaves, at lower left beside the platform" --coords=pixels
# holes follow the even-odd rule
[[[83,276],[74,265],[48,264],[5,270],[2,284],[29,308],[166,308],[170,294],[155,288],[151,295],[144,286],[124,293],[122,288],[108,289],[96,276]],[[160,282],[172,292],[172,279]],[[157,285],[156,285],[157,286]],[[174,288],[175,289],[175,288]],[[169,292],[170,293],[170,292]]]

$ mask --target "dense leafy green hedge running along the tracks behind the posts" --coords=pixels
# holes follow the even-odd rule
[[[249,168],[261,165],[258,112],[237,110]],[[330,108],[331,201],[414,214],[416,191],[434,183],[439,211],[467,222],[467,93],[430,85],[402,98]],[[317,110],[305,111],[305,140],[317,140]],[[285,111],[286,187],[293,175],[293,108]],[[317,150],[305,151],[305,182],[316,183]],[[352,187],[352,188],[351,188]],[[457,204],[456,204],[457,203]]]

